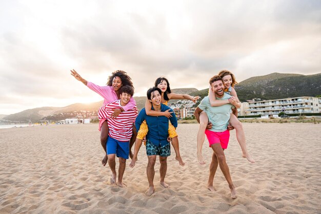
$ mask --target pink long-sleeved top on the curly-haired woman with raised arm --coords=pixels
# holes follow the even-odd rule
[[[97,94],[101,95],[102,97],[104,97],[104,105],[110,102],[113,102],[115,100],[118,100],[118,97],[114,88],[109,85],[99,86],[92,82],[87,81],[87,87],[92,91],[96,92]],[[130,109],[133,109],[135,106],[136,106],[136,101],[134,100],[134,98],[130,98],[127,105],[122,106],[122,108],[126,112]],[[106,119],[99,120],[99,131],[101,130],[102,124],[105,120]]]

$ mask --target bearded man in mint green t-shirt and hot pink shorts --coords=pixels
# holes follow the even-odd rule
[[[224,93],[224,84],[222,78],[218,75],[213,76],[210,79],[211,90],[213,91],[216,99],[226,100],[229,99],[228,104],[220,106],[211,106],[208,96],[197,106],[194,115],[199,122],[199,115],[204,111],[206,112],[211,127],[205,131],[206,137],[209,141],[210,147],[213,149],[212,162],[210,164],[210,175],[208,179],[208,189],[214,191],[213,180],[216,173],[217,166],[219,164],[222,173],[227,180],[231,189],[231,197],[236,198],[236,190],[233,185],[230,169],[226,163],[224,149],[227,148],[230,132],[228,130],[228,124],[230,119],[231,109],[235,108],[237,101],[234,97]],[[197,142],[198,143],[198,142]],[[199,145],[197,145],[198,147]]]

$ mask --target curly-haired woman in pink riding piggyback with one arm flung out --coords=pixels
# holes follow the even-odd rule
[[[96,85],[92,82],[87,81],[81,75],[79,75],[75,70],[70,70],[71,75],[75,77],[76,80],[83,82],[89,89],[96,92],[97,94],[101,95],[104,98],[104,105],[120,99],[119,97],[119,89],[121,89],[122,86],[130,85],[133,87],[133,83],[131,81],[131,78],[127,75],[125,71],[117,70],[113,72],[109,77],[107,84],[104,86]],[[134,88],[134,87],[133,87]],[[136,101],[131,98],[130,101],[127,103],[127,105],[123,106],[121,109],[115,109],[113,114],[110,115],[111,117],[117,117],[121,112],[128,111],[136,106]],[[99,131],[101,131],[101,144],[105,151],[105,157],[102,160],[102,164],[105,166],[107,163],[107,150],[106,150],[106,142],[108,138],[109,128],[107,124],[107,119],[99,119]],[[133,146],[135,139],[137,136],[137,131],[135,124],[133,123],[133,135],[130,139],[130,145],[129,145],[129,152],[130,157],[132,157],[131,147]]]

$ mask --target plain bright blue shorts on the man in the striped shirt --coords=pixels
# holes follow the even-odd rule
[[[121,142],[110,136],[106,143],[107,155],[116,154],[119,158],[128,159],[129,158],[129,141]]]

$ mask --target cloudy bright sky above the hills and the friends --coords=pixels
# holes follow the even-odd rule
[[[320,73],[321,1],[1,1],[0,114],[102,100],[70,69],[99,85],[124,70],[135,96],[159,76]]]

